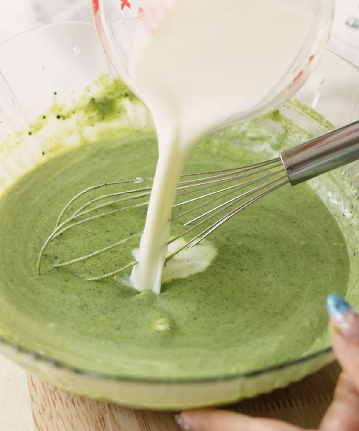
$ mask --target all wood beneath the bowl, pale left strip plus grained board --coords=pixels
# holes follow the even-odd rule
[[[339,372],[334,363],[284,389],[230,408],[316,428],[331,401]],[[79,397],[0,357],[0,431],[178,430],[172,412],[133,410]]]

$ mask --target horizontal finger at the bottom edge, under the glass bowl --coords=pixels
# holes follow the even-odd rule
[[[274,419],[252,418],[226,410],[190,410],[176,417],[185,431],[300,431]],[[303,431],[303,430],[302,430]]]

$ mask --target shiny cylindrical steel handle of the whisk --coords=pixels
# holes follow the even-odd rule
[[[279,153],[293,186],[359,159],[359,121]]]

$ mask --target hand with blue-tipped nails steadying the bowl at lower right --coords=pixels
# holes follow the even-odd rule
[[[342,366],[334,398],[319,430],[359,430],[359,315],[338,295],[329,295],[329,331],[335,356]],[[185,431],[299,431],[294,425],[252,418],[225,410],[202,409],[176,416]]]

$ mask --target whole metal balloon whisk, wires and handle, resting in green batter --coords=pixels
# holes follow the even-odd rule
[[[300,184],[310,178],[317,177],[318,175],[358,159],[359,121],[356,121],[303,144],[284,150],[279,153],[279,157],[275,159],[238,168],[181,175],[181,181],[178,183],[177,188],[177,198],[180,199],[180,202],[176,202],[173,205],[173,209],[179,209],[180,213],[172,215],[170,221],[179,220],[182,222],[188,215],[190,216],[190,220],[182,223],[185,230],[180,235],[171,238],[167,245],[181,237],[187,236],[199,227],[203,230],[167,256],[166,261],[172,259],[172,257],[186,247],[195,247],[223,223],[238,214],[238,212],[269,193],[283,187],[285,184],[291,184],[293,186]],[[149,203],[147,198],[150,197],[152,187],[148,185],[145,187],[130,188],[129,190],[126,189],[115,193],[103,194],[88,200],[86,203],[79,206],[72,215],[64,219],[70,207],[72,207],[81,196],[103,187],[120,185],[121,187],[127,187],[131,186],[131,184],[151,183],[152,181],[153,178],[113,181],[87,187],[85,190],[78,193],[62,209],[53,232],[49,235],[41,248],[37,260],[37,273],[40,275],[44,251],[56,237],[69,231],[69,229],[73,229],[78,225],[92,220],[113,215],[117,212],[147,206]],[[249,190],[247,190],[248,188]],[[191,194],[190,198],[186,198],[188,194]],[[194,197],[192,195],[194,195]],[[105,200],[106,202],[100,203],[100,201]],[[134,200],[142,201],[133,203]],[[224,200],[224,202],[222,202],[222,200]],[[221,202],[219,203],[219,201]],[[103,212],[106,207],[113,205],[120,205],[120,208]],[[192,213],[196,212],[197,214],[198,211],[200,211],[199,215],[191,216]],[[203,228],[204,226],[206,227]],[[140,237],[142,233],[143,232],[140,231],[114,244],[95,250],[92,253],[66,262],[56,263],[53,266],[59,268],[94,258],[115,247],[120,247],[129,240]],[[124,272],[136,265],[136,263],[137,261],[134,260],[122,266],[122,268],[116,269],[116,271],[96,277],[84,278],[89,281],[103,280]]]

